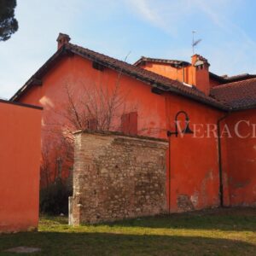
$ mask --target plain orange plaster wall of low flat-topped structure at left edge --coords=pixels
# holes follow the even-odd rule
[[[38,227],[41,113],[0,102],[0,233]]]

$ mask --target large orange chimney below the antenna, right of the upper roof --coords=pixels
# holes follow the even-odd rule
[[[209,66],[207,59],[201,55],[193,55],[191,57],[192,65],[192,84],[199,90],[203,91],[207,96],[210,92]]]

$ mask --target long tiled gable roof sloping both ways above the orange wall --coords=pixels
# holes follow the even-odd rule
[[[44,65],[38,69],[38,72],[35,73],[32,78],[29,79],[26,84],[23,85],[20,90],[15,93],[14,96],[11,97],[10,100],[17,101],[20,96],[22,96],[26,92],[26,90],[29,90],[32,85],[36,83],[38,84],[40,82],[40,79],[42,79],[48,69],[52,67],[56,61],[58,61],[61,55],[68,54],[81,55],[82,57],[90,61],[96,61],[97,63],[102,64],[105,67],[112,68],[119,73],[123,73],[135,79],[141,80],[143,81],[143,83],[149,84],[153,88],[157,88],[158,90],[173,92],[177,95],[186,96],[190,99],[207,104],[214,108],[219,108],[223,110],[226,109],[225,106],[220,104],[218,101],[212,99],[209,96],[205,96],[205,94],[201,92],[201,90],[196,89],[195,86],[186,86],[176,80],[168,79],[157,73],[150,72],[141,67],[131,65],[125,61],[119,61],[107,55],[102,55],[93,50],[85,49],[75,44],[64,44],[60,49],[58,49],[55,55],[52,55],[49,60],[46,61]]]

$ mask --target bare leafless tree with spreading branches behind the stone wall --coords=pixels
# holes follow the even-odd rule
[[[56,102],[61,108],[53,108],[54,114],[44,119],[43,130],[50,138],[43,141],[41,178],[45,183],[55,181],[64,169],[72,169],[73,131],[120,131],[122,115],[137,110],[135,104],[127,103],[130,91],[122,88],[120,73],[112,87],[83,83],[73,86],[67,81],[62,90],[65,99]]]

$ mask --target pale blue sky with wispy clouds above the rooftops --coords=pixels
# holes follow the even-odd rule
[[[0,97],[9,99],[53,55],[59,32],[71,43],[134,63],[142,55],[190,61],[218,75],[256,73],[254,0],[17,0],[19,31],[0,42]]]

